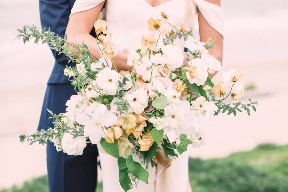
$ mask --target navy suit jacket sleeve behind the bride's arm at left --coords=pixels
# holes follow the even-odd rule
[[[42,28],[51,28],[52,32],[64,38],[65,30],[71,12],[68,0],[39,0],[39,10]],[[67,57],[51,49],[58,64],[66,65]]]

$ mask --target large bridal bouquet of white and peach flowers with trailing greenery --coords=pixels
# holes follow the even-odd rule
[[[213,47],[211,39],[194,40],[183,56],[173,42],[188,37],[191,41],[191,30],[172,26],[162,13],[161,19],[148,21],[149,29],[159,32],[158,39],[153,34],[143,37],[140,46],[129,53],[127,64],[132,70],[117,71],[113,62],[117,48],[107,25],[104,20],[95,22],[99,60],[84,43],[70,45],[67,36],[62,39],[50,29],[40,31],[35,25],[18,29],[18,38],[24,43],[32,38],[35,43],[40,40],[67,55],[69,62],[76,62],[76,67],[66,67],[64,74],[77,91],[67,101],[66,113],[48,110],[54,128],[21,135],[21,142],[50,141],[57,151],[68,155],[81,155],[87,143],[100,143],[101,150],[118,159],[119,181],[127,191],[139,180],[148,183],[149,163],[169,166],[171,158],[185,152],[188,145],[204,145],[204,123],[208,119],[220,112],[236,115],[246,110],[250,115],[250,108],[256,111],[257,102],[236,102],[244,94],[240,70],[224,72],[217,84],[209,78],[221,69],[220,61],[208,52]],[[225,104],[226,98],[232,103]],[[158,153],[164,154],[164,161]]]

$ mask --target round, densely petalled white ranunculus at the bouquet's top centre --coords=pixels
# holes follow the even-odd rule
[[[169,44],[162,47],[162,52],[169,69],[174,70],[183,65],[183,51],[179,47]]]

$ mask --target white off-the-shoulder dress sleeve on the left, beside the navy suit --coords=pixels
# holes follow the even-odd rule
[[[103,1],[105,0],[76,0],[71,9],[70,16],[74,13],[92,9]]]

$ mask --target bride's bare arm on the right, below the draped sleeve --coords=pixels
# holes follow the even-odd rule
[[[206,1],[220,6],[220,0],[206,0]],[[209,23],[205,20],[199,9],[197,10],[197,13],[199,21],[200,41],[205,42],[207,38],[216,39],[216,41],[213,43],[213,45],[215,46],[209,49],[209,52],[213,57],[215,57],[222,63],[223,36],[209,25]],[[215,73],[212,75],[209,74],[210,77],[213,77],[214,75]]]

